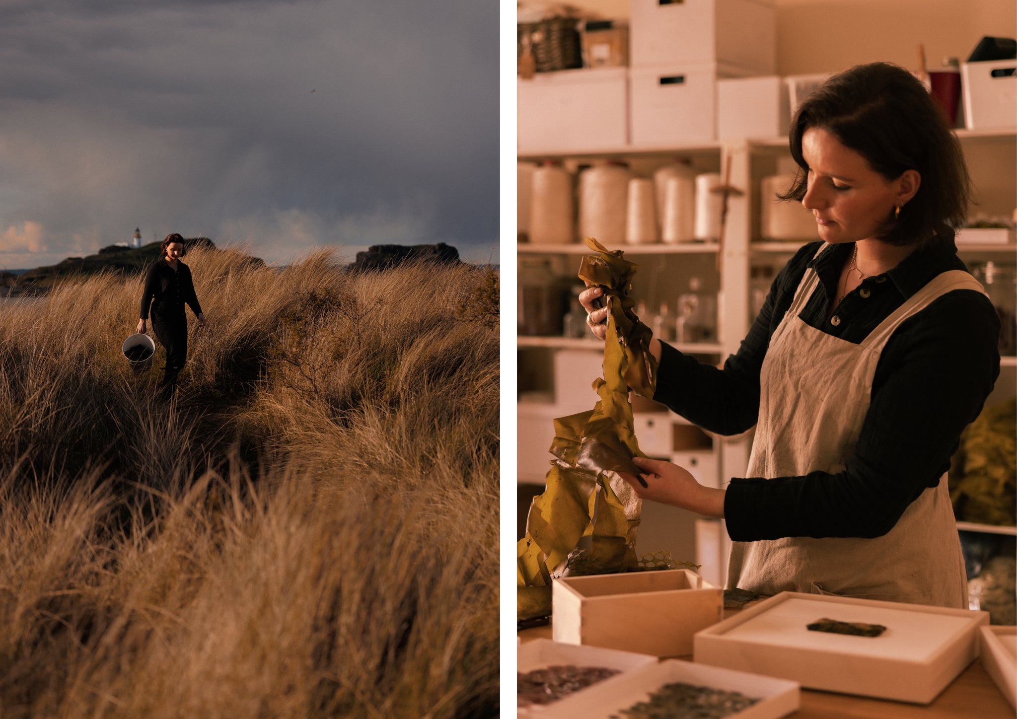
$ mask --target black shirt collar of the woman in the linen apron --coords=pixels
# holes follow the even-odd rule
[[[827,294],[831,297],[837,292],[840,271],[853,251],[854,244],[850,242],[827,245],[809,263],[809,266],[816,269],[820,282],[827,288]],[[954,231],[944,228],[924,245],[904,257],[897,266],[882,275],[865,278],[865,281],[878,282],[880,278],[885,278],[897,288],[904,299],[907,299],[940,273],[963,268],[963,263],[957,257]]]

